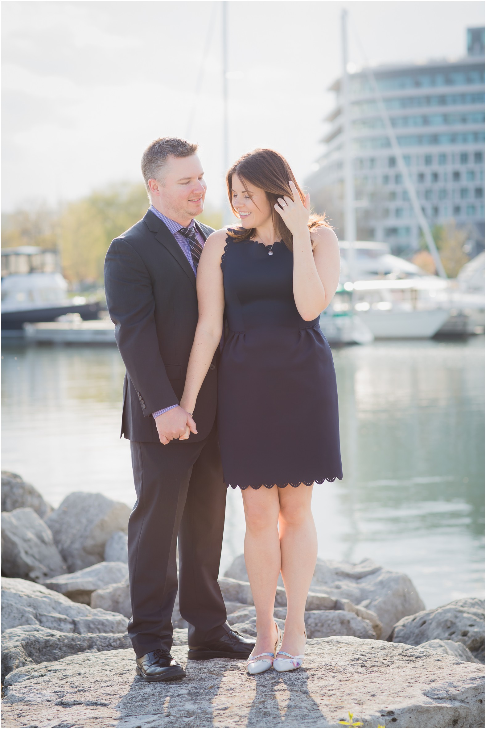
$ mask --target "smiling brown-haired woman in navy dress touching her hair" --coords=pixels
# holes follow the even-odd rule
[[[247,670],[291,671],[303,660],[317,556],[313,483],[342,478],[334,365],[319,329],[319,314],[338,286],[339,247],[324,220],[310,218],[309,196],[278,152],[243,155],[226,182],[241,225],[212,233],[204,245],[199,322],[180,405],[194,411],[226,319],[218,432],[225,480],[242,490],[247,526],[244,558],[257,627]],[[287,617],[276,653],[280,572]]]

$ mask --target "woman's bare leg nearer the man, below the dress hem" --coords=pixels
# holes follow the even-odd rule
[[[257,614],[257,641],[252,655],[274,652],[276,627],[274,604],[280,572],[279,489],[261,487],[242,491],[244,561]]]

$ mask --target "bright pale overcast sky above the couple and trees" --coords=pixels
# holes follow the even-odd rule
[[[368,58],[380,63],[466,54],[484,25],[468,0],[229,0],[230,160],[282,152],[303,179],[319,155],[327,87],[340,73],[347,7]],[[196,96],[204,47],[209,48]],[[351,61],[360,63],[350,37]],[[207,200],[223,195],[220,1],[2,2],[2,210],[73,200],[141,181],[158,136],[200,144]]]

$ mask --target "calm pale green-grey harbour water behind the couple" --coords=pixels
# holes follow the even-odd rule
[[[482,596],[484,338],[334,350],[343,481],[314,487],[319,555],[406,572],[427,607]],[[119,440],[116,348],[4,347],[2,468],[57,506],[71,491],[135,501]],[[242,552],[229,491],[222,572]]]

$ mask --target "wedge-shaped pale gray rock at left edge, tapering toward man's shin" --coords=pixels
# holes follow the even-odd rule
[[[41,625],[61,633],[124,633],[127,618],[73,602],[44,585],[1,578],[1,631]]]

